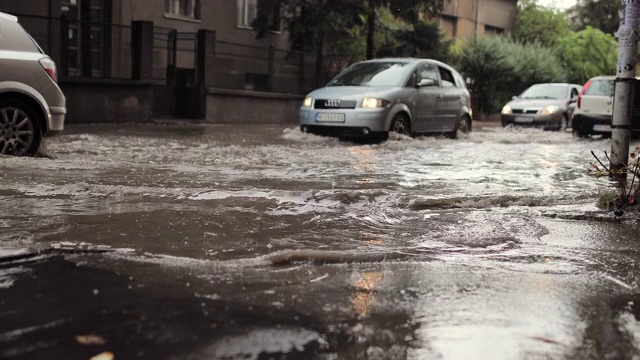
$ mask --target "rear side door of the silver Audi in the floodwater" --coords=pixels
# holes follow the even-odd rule
[[[438,66],[440,75],[440,95],[436,102],[436,118],[439,131],[451,131],[455,129],[460,117],[462,104],[462,91],[456,86],[453,73],[442,66]]]

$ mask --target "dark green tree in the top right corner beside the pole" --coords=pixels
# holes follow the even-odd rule
[[[620,26],[620,0],[583,0],[576,5],[576,30],[588,26],[614,35]]]

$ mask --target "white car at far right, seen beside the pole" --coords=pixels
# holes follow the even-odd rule
[[[615,79],[615,76],[596,76],[584,84],[571,119],[576,137],[611,136]]]

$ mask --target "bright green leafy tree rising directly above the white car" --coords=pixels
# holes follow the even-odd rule
[[[616,39],[590,26],[562,38],[556,53],[571,82],[583,84],[591,77],[616,73]]]

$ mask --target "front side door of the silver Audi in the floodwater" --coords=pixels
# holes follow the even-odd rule
[[[439,131],[436,108],[441,94],[436,65],[427,62],[418,64],[416,87],[413,130],[416,132]]]

